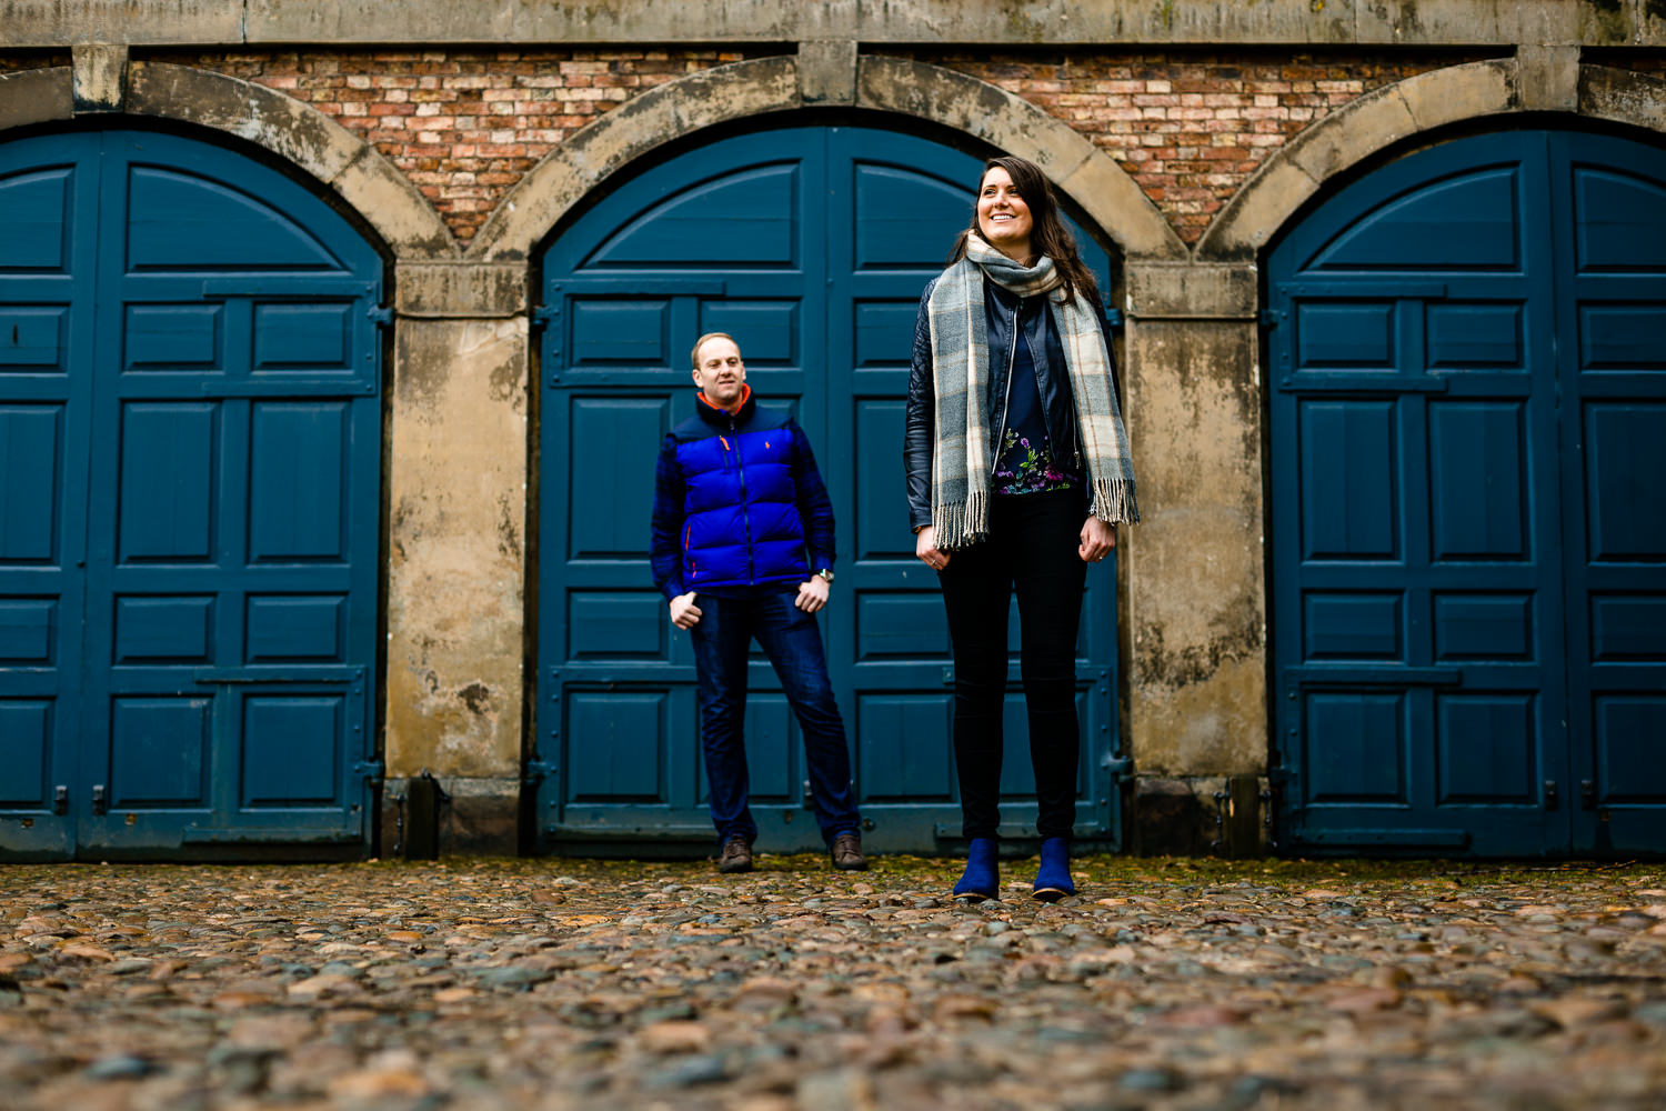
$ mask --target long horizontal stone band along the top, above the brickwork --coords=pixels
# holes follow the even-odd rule
[[[1653,0],[7,0],[0,47],[235,43],[1381,43],[1638,47]]]

